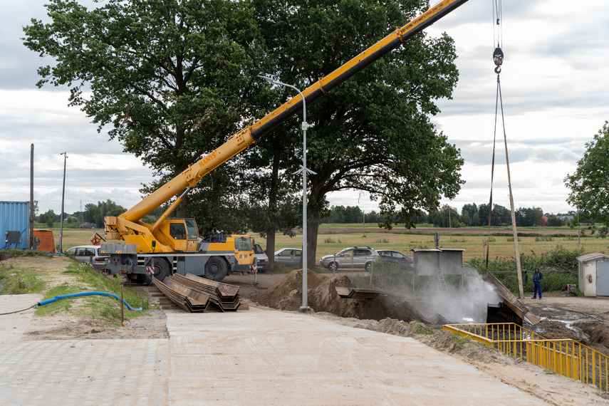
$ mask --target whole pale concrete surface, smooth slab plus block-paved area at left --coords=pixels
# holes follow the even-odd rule
[[[4,321],[1,405],[541,403],[410,338],[300,313],[167,311],[168,340],[24,341]]]

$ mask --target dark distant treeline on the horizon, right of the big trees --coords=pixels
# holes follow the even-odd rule
[[[517,227],[536,227],[546,225],[548,227],[561,227],[567,221],[561,218],[576,218],[576,212],[559,214],[543,213],[541,207],[517,209]],[[561,218],[559,218],[561,217]],[[364,213],[358,206],[333,206],[330,214],[324,217],[321,222],[324,224],[355,224],[380,223],[385,220],[382,214],[375,211]],[[416,224],[433,224],[434,227],[484,227],[489,225],[489,205],[475,203],[465,204],[459,213],[455,207],[444,204],[439,211],[432,214],[419,212],[415,221]],[[506,207],[494,204],[491,210],[491,226],[501,227],[511,225],[511,213]]]

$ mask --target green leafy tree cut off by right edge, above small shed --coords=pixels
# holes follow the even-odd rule
[[[571,189],[567,202],[578,207],[579,218],[603,238],[609,233],[609,123],[585,144],[583,157],[573,175],[564,179]],[[596,224],[600,224],[600,227]]]

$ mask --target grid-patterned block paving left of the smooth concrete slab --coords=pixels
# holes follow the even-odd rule
[[[167,405],[167,341],[2,343],[0,405]]]

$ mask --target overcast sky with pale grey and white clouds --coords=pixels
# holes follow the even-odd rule
[[[459,56],[453,99],[441,100],[442,113],[433,118],[465,160],[462,177],[467,183],[455,199],[442,201],[459,211],[463,204],[488,203],[491,190],[493,1],[469,0],[427,30],[452,36]],[[61,212],[64,151],[66,212],[106,199],[132,207],[152,171],[123,153],[106,132],[98,133],[78,108],[68,108],[65,88],[36,88],[36,68],[48,61],[41,61],[19,38],[31,18],[45,18],[45,3],[5,1],[0,15],[0,200],[29,200],[33,143],[34,199],[41,212]],[[585,142],[609,119],[609,2],[511,0],[502,6],[501,91],[514,205],[566,212],[571,208],[563,178],[574,172]],[[354,49],[353,55],[360,51]],[[501,127],[496,137],[493,201],[509,208]],[[375,202],[358,192],[328,199],[333,205],[359,205],[366,212],[376,209]]]

